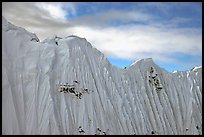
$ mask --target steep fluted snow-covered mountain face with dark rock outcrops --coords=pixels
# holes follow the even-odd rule
[[[202,134],[202,67],[117,68],[84,38],[2,17],[2,134]]]

